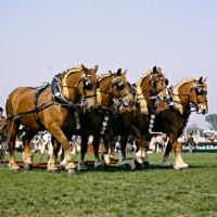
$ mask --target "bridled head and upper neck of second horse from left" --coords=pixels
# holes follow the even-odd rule
[[[108,105],[111,100],[117,99],[123,102],[124,106],[131,106],[135,103],[135,94],[127,81],[126,73],[122,73],[122,68],[117,73],[112,73],[103,75],[100,78],[100,92],[104,94],[103,104]]]

